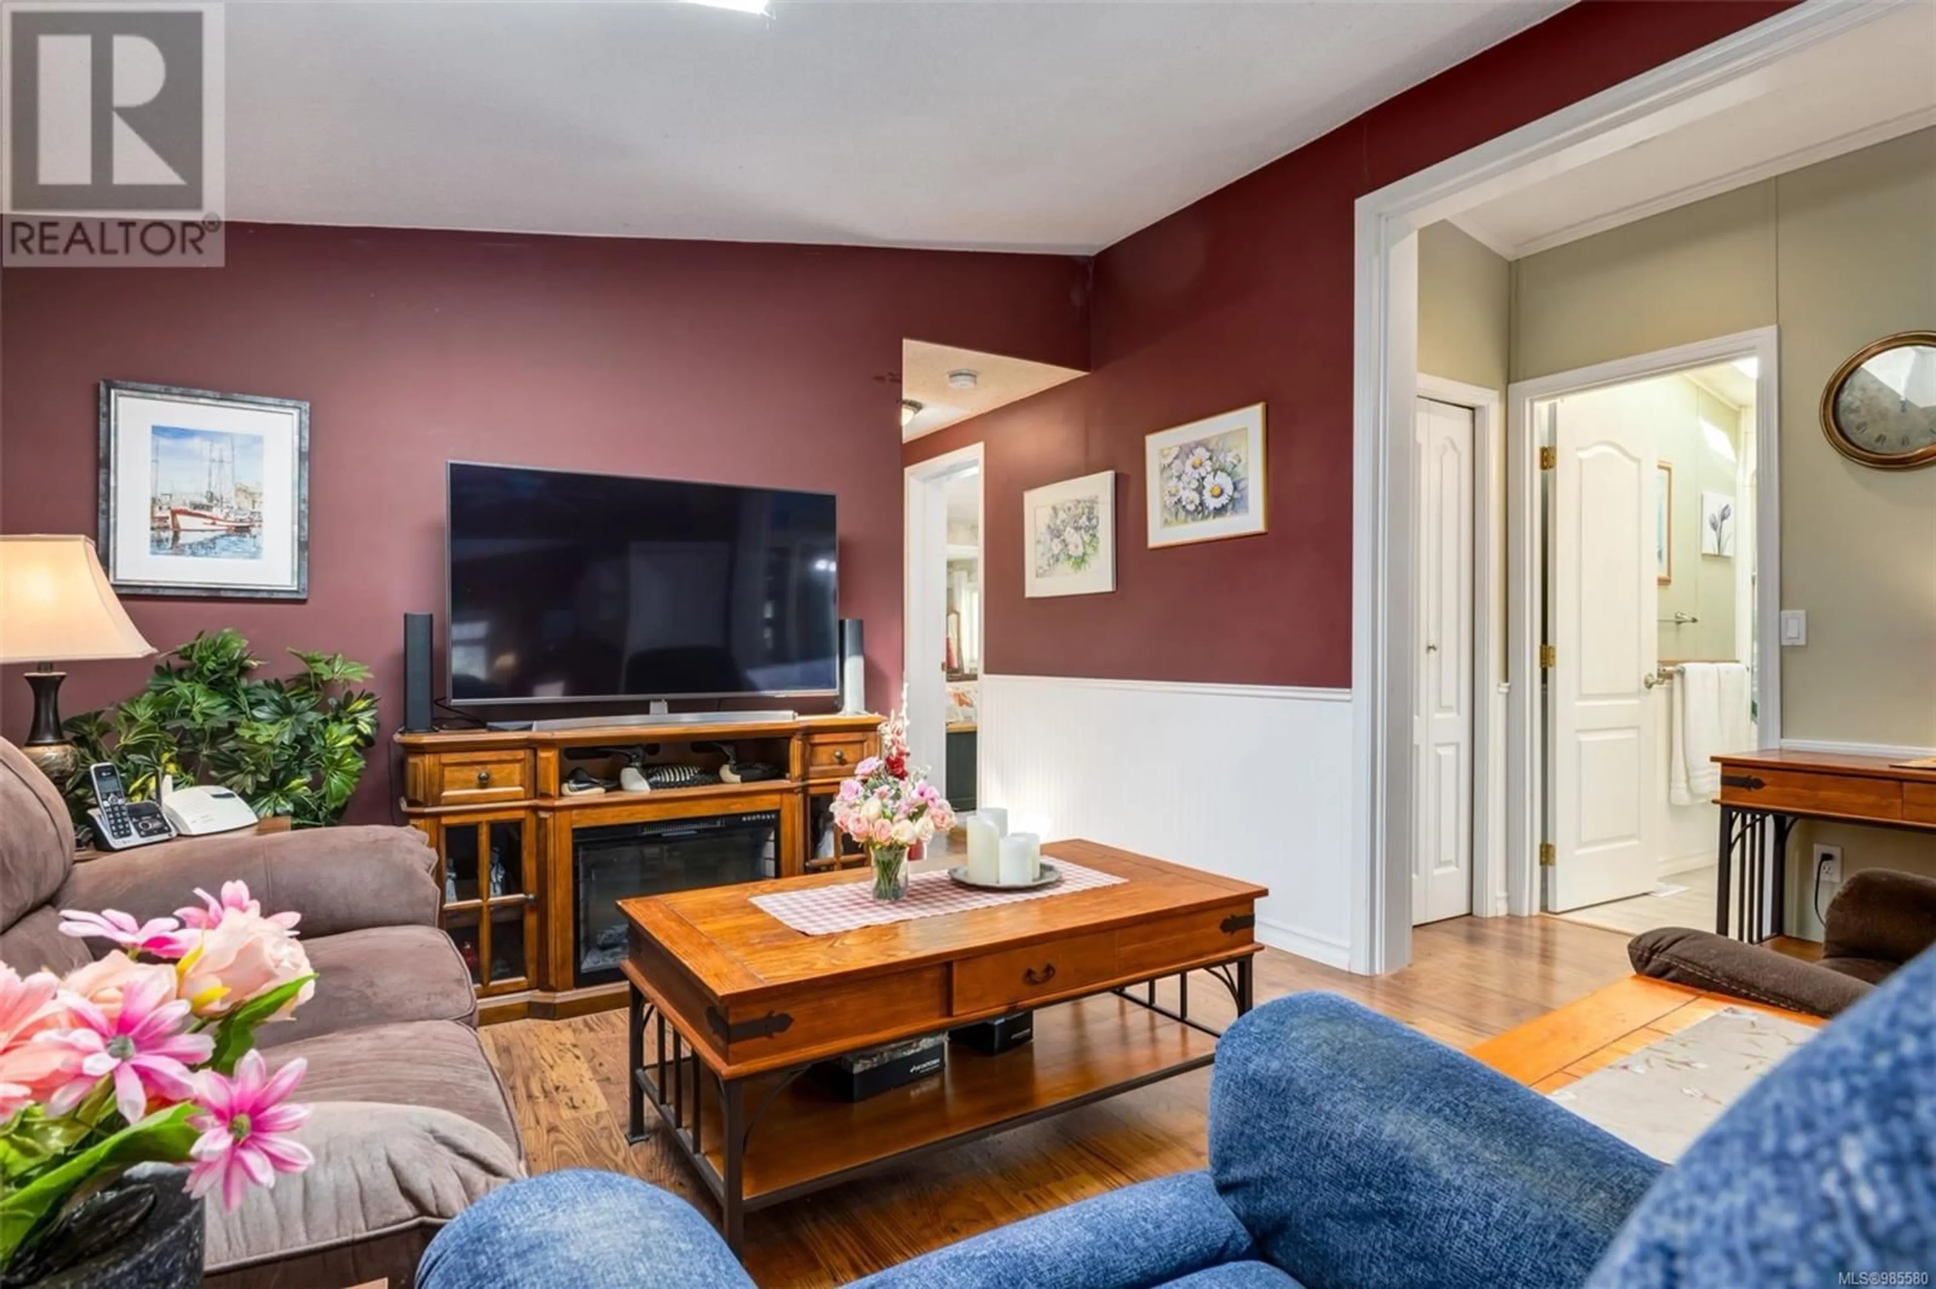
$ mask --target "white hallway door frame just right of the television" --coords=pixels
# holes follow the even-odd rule
[[[918,461],[902,470],[906,509],[902,511],[902,600],[900,600],[900,675],[908,687],[908,755],[916,764],[929,768],[929,774],[947,782],[947,708],[939,712],[941,728],[933,728],[935,712],[916,697],[916,677],[922,670],[933,672],[947,650],[947,507],[949,480],[968,470],[976,472],[976,488],[982,490],[978,507],[982,521],[976,525],[976,544],[987,555],[987,474],[982,468],[982,443],[958,447],[953,453]],[[939,515],[937,515],[939,511]],[[937,521],[939,519],[939,526]],[[941,544],[933,544],[939,532]],[[982,573],[982,604],[987,604],[987,567]],[[982,664],[987,668],[987,637],[982,635]],[[922,668],[922,670],[918,670]],[[943,687],[943,695],[947,689]],[[898,697],[896,697],[898,701]],[[891,708],[875,703],[881,710]]]

